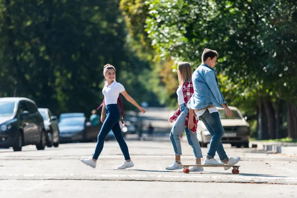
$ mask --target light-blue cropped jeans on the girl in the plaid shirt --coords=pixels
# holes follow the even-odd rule
[[[197,133],[192,133],[192,131],[188,129],[188,126],[185,125],[185,120],[189,113],[189,109],[187,108],[185,103],[181,104],[180,108],[181,114],[178,116],[170,133],[170,140],[173,145],[174,152],[176,155],[182,155],[180,136],[185,131],[188,143],[193,149],[195,158],[202,158],[203,155],[199,141],[197,139]]]

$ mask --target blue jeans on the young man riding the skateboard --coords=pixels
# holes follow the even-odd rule
[[[215,151],[217,151],[220,160],[222,162],[227,161],[229,158],[222,144],[222,137],[225,131],[220,120],[219,112],[209,113],[208,109],[206,109],[205,112],[199,116],[199,120],[203,122],[212,136],[206,157],[213,158]]]

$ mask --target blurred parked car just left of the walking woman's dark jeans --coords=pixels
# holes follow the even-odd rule
[[[60,142],[96,141],[101,124],[93,126],[86,117],[64,117],[59,123]]]

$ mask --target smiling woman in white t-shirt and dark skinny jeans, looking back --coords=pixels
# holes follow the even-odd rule
[[[115,81],[114,66],[110,64],[104,65],[103,75],[106,79],[106,82],[104,83],[104,87],[102,89],[102,93],[104,95],[104,102],[103,102],[101,118],[100,118],[103,125],[98,135],[98,142],[97,142],[97,146],[93,157],[88,159],[81,159],[81,161],[84,164],[87,164],[92,168],[95,168],[97,159],[104,145],[105,137],[109,133],[109,131],[112,130],[114,137],[118,142],[118,144],[120,145],[120,148],[125,157],[124,162],[118,167],[118,169],[130,168],[130,167],[133,167],[134,164],[130,159],[129,150],[123,138],[120,124],[119,124],[120,111],[117,105],[117,99],[119,97],[119,94],[121,93],[125,97],[125,99],[127,99],[129,102],[134,104],[143,113],[145,113],[146,110],[140,105],[138,105],[138,103],[128,95],[128,93],[125,91],[125,88],[122,84]],[[106,119],[105,119],[105,113],[106,113]]]

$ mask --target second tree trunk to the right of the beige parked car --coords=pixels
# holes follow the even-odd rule
[[[271,101],[265,101],[264,106],[267,117],[268,138],[275,139],[275,115]]]

